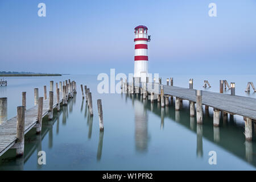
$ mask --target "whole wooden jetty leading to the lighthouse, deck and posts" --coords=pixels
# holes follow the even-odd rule
[[[180,110],[182,101],[188,100],[190,116],[194,117],[196,115],[196,120],[199,124],[203,124],[203,105],[205,105],[205,110],[209,110],[209,106],[213,107],[213,125],[216,127],[220,126],[220,113],[223,113],[224,117],[228,117],[228,114],[241,115],[245,121],[245,138],[246,140],[252,140],[252,124],[256,121],[256,98],[236,96],[234,94],[234,83],[232,83],[230,88],[232,94],[224,94],[225,82],[226,80],[220,80],[220,93],[193,89],[193,79],[189,80],[189,88],[169,85],[168,79],[167,85],[152,82],[127,82],[126,79],[121,89],[123,93],[141,93],[143,94],[143,99],[148,97],[148,100],[151,100],[151,102],[157,100],[161,103],[162,107],[168,107],[169,99],[171,98],[172,100],[175,97],[175,110]]]

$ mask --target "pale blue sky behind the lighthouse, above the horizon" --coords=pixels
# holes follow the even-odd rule
[[[46,17],[38,3],[46,3]],[[208,5],[217,5],[217,17]],[[1,71],[132,73],[134,27],[148,27],[149,71],[245,74],[256,66],[256,1],[0,0]]]

